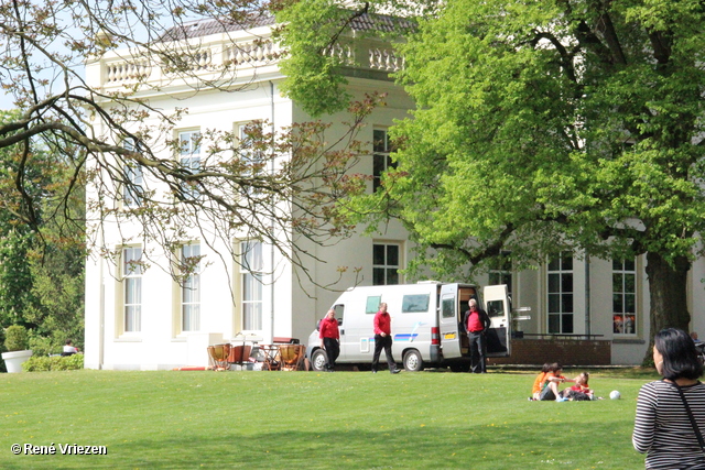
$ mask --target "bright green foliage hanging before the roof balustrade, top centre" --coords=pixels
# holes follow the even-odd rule
[[[281,89],[314,117],[332,114],[349,106],[351,95],[345,85],[347,77],[356,76],[350,67],[368,59],[369,44],[362,46],[362,40],[372,37],[377,44],[379,39],[399,41],[409,32],[415,15],[437,10],[436,1],[368,1],[347,8],[335,0],[284,3],[285,8],[276,11],[278,22],[284,25],[275,33],[286,50],[280,62],[286,77]],[[403,21],[392,20],[390,12],[399,13]],[[356,21],[366,28],[352,30]]]

